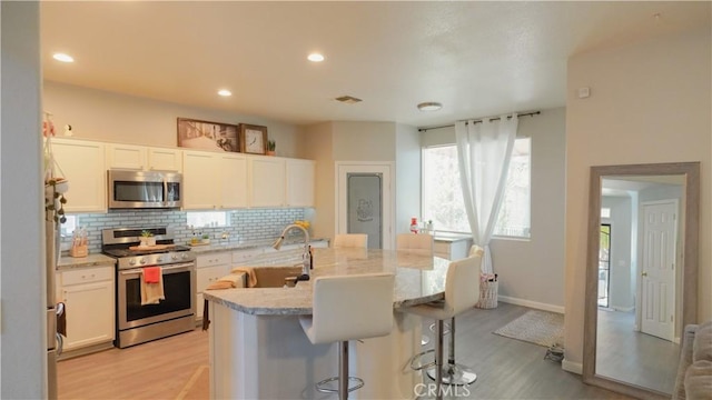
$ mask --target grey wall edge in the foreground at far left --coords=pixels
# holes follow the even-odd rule
[[[0,398],[47,398],[39,2],[0,3]]]

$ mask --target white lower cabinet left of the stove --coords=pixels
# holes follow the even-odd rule
[[[110,264],[58,273],[67,310],[65,351],[113,341],[113,271]]]

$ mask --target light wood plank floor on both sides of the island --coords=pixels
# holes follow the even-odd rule
[[[546,348],[492,333],[527,310],[500,303],[496,309],[473,309],[457,318],[457,362],[471,366],[478,379],[467,396],[461,391],[452,399],[629,399],[589,387],[560,363],[544,360]],[[207,363],[208,334],[200,330],[111,349],[59,362],[59,398],[176,399],[194,372]]]

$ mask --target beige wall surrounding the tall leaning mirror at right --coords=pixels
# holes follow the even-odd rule
[[[568,60],[565,363],[583,361],[589,177],[592,166],[701,162],[698,319],[712,319],[710,30],[601,49]],[[591,88],[578,99],[576,89]]]

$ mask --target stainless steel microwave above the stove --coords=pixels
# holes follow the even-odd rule
[[[182,206],[178,172],[109,170],[109,209],[171,209]]]

